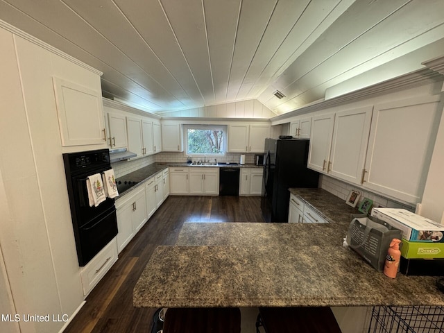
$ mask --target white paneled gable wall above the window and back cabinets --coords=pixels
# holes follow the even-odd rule
[[[203,108],[186,109],[180,111],[157,112],[162,117],[206,117],[206,118],[265,118],[275,117],[265,105],[250,99],[219,105],[210,105]]]

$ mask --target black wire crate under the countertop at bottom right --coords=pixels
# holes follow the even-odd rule
[[[444,333],[443,307],[373,307],[368,333]]]

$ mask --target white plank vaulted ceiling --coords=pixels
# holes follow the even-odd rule
[[[443,14],[443,0],[0,0],[1,20],[150,112],[257,99],[282,114],[408,73],[443,55]]]

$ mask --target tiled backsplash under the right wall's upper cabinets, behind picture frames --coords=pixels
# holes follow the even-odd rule
[[[350,185],[346,182],[342,182],[341,180],[337,180],[335,178],[321,175],[321,188],[325,189],[325,191],[329,191],[331,194],[338,196],[339,198],[345,199],[348,197],[348,194],[352,189],[359,191],[361,193],[361,197],[359,198],[359,203],[357,207],[361,203],[364,198],[369,198],[373,200],[373,207],[387,207],[387,208],[404,208],[404,210],[409,210],[411,212],[415,212],[414,206],[407,205],[404,203],[400,203],[393,199],[384,198],[383,196],[379,196],[379,194],[374,194],[368,190],[360,189],[359,187],[355,187],[354,185]]]

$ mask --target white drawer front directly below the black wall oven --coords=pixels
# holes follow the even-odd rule
[[[114,238],[82,268],[80,278],[82,280],[83,295],[87,296],[89,291],[92,291],[116,261],[117,238]]]

